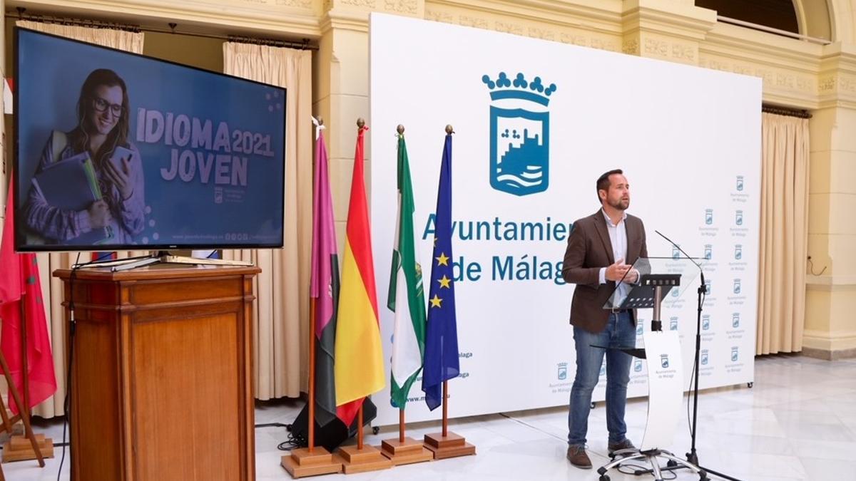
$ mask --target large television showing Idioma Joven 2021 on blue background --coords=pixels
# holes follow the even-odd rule
[[[282,246],[285,89],[15,36],[17,250]]]

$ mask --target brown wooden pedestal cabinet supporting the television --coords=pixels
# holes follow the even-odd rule
[[[56,270],[74,292],[71,478],[252,481],[256,267]]]

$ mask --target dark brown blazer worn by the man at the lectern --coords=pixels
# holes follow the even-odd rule
[[[645,226],[642,219],[627,215],[624,221],[627,230],[627,258],[625,264],[633,264],[637,258],[648,257],[645,245]],[[615,290],[615,282],[600,283],[600,268],[615,263],[612,255],[612,241],[603,211],[597,210],[588,217],[574,223],[568,236],[568,248],[562,263],[562,277],[565,282],[576,284],[574,299],[571,301],[571,324],[597,333],[606,327],[609,311],[603,304],[609,294]],[[635,312],[631,313],[636,323]]]

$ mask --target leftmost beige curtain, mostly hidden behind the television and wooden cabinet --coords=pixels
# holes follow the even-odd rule
[[[45,33],[61,35],[68,39],[82,40],[97,45],[104,45],[119,50],[134,53],[143,52],[143,33],[131,33],[108,28],[86,28],[68,25],[55,25],[36,21],[18,21],[18,27],[30,28]],[[82,79],[81,79],[82,81]],[[132,97],[133,98],[133,97]],[[139,252],[120,252],[118,257],[139,255]],[[51,276],[57,269],[68,269],[77,258],[76,253],[40,253],[39,280],[42,284],[42,298],[47,300],[48,323],[50,324],[51,346],[53,347],[54,368],[56,370],[56,393],[47,401],[33,409],[33,414],[44,418],[64,414],[62,401],[65,398],[66,383],[66,352],[65,352],[65,320],[62,310],[62,282]],[[80,254],[80,261],[90,260],[88,252]]]

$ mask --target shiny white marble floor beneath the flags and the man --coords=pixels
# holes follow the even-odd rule
[[[856,480],[856,359],[823,361],[802,356],[764,356],[755,365],[755,383],[711,389],[699,397],[698,456],[702,466],[732,478],[754,481]],[[256,422],[290,423],[300,401],[259,403]],[[603,403],[591,412],[590,455],[595,466],[606,457],[606,419]],[[467,437],[478,455],[399,466],[393,470],[325,479],[362,480],[570,480],[597,479],[593,470],[580,470],[565,460],[568,434],[567,409],[553,408],[501,413],[451,421],[450,429]],[[628,436],[640,441],[645,427],[645,401],[627,406]],[[38,430],[55,442],[62,424],[39,422]],[[418,437],[437,431],[437,423],[422,423],[408,430]],[[371,431],[368,431],[371,432]],[[366,441],[378,444],[397,435],[394,427]],[[287,437],[281,427],[256,430],[256,472],[259,480],[290,479],[279,466],[282,451],[276,445]],[[689,448],[689,434],[681,427],[672,451],[679,456]],[[56,480],[61,449],[45,468],[35,461],[3,465],[10,481]],[[666,474],[664,478],[673,478]],[[652,479],[615,470],[615,481]],[[717,479],[711,475],[712,479]],[[59,479],[68,479],[68,460]],[[675,479],[698,479],[683,471]]]

